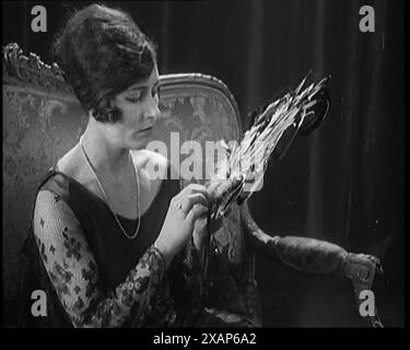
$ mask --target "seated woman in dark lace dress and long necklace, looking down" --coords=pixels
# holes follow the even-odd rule
[[[144,150],[160,114],[154,45],[125,12],[93,4],[69,19],[55,51],[90,119],[36,196],[26,249],[37,255],[38,288],[47,291],[42,320],[48,327],[187,325],[196,308],[178,310],[166,271],[192,244],[209,195],[147,171],[148,164],[169,171],[165,159]],[[200,282],[189,290],[195,301]]]

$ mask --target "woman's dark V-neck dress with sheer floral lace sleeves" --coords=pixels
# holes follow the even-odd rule
[[[168,170],[169,175],[169,170]],[[38,187],[23,248],[25,327],[190,326],[203,302],[192,241],[165,271],[153,246],[179,182],[164,179],[140,231],[129,240],[107,205],[51,168]],[[131,235],[137,220],[119,218]],[[44,290],[47,316],[33,317],[30,295]]]

